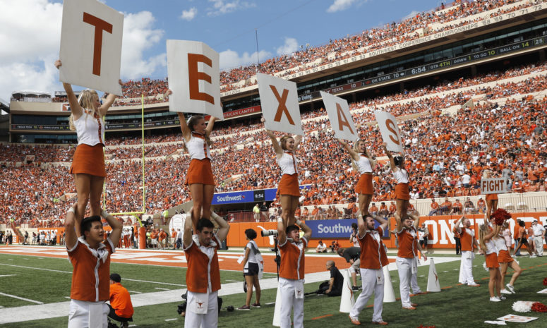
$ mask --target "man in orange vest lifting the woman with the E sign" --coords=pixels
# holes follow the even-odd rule
[[[192,214],[192,213],[189,213]],[[212,233],[216,221],[220,227]],[[211,220],[201,218],[192,236],[192,219],[184,221],[184,255],[188,263],[186,270],[186,315],[184,327],[213,328],[218,326],[218,291],[220,289],[220,268],[217,249],[228,236],[227,221],[211,212]]]

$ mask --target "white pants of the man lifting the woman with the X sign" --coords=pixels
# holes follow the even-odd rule
[[[291,310],[293,310],[294,328],[304,327],[304,299],[294,296],[294,283],[300,280],[279,278],[281,288],[281,328],[291,327]]]

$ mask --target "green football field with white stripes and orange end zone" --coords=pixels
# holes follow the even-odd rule
[[[21,254],[20,248],[23,247],[0,247],[0,323],[4,323],[0,324],[0,327],[66,327],[72,271],[71,264],[66,260],[66,251],[61,247],[25,247],[24,249],[29,251],[25,255]],[[128,250],[126,252],[137,255],[160,253],[182,255],[169,251],[131,252]],[[117,253],[120,256],[123,254],[123,257],[129,257],[124,251]],[[235,258],[239,256],[234,252],[223,252],[222,255]],[[310,265],[310,267],[324,268],[325,261],[329,257],[332,256],[307,254],[306,267]],[[265,257],[265,261],[273,262],[272,258]],[[542,281],[547,277],[546,257],[519,258],[520,265],[525,270],[515,284],[517,294],[508,296],[507,300],[501,303],[488,302],[488,272],[482,268],[483,257],[477,256],[474,261],[474,275],[481,284],[479,288],[458,286],[457,257],[435,255],[434,258],[443,291],[414,296],[413,302],[419,304],[419,308],[415,311],[402,310],[399,301],[385,303],[383,319],[389,322],[389,327],[419,327],[420,324],[435,325],[435,327],[492,327],[483,322],[495,320],[507,314],[517,314],[511,309],[512,303],[516,300],[547,303],[546,294],[536,293],[544,288]],[[136,265],[115,261],[117,260],[113,259],[111,272],[121,274],[122,284],[130,291],[136,307],[136,313],[133,316],[134,327],[184,326],[184,318],[176,313],[176,305],[182,302],[180,296],[185,288],[186,269],[183,265],[176,267],[172,266],[172,263]],[[223,306],[239,307],[244,304],[245,297],[242,290],[241,266],[239,270],[224,270],[223,266],[227,265],[228,261],[224,265],[222,262],[224,261],[220,263],[223,269],[221,272]],[[341,269],[347,267],[343,260],[337,266]],[[395,263],[390,264],[390,269],[395,269]],[[392,271],[390,274],[395,295],[399,296],[397,271]],[[424,291],[427,275],[428,265],[421,265],[419,285]],[[222,310],[219,327],[239,328],[245,325],[271,327],[274,305],[268,305],[268,303],[275,302],[277,286],[275,277],[275,272],[267,273],[265,279],[261,281],[264,291],[260,303],[263,304],[263,308],[235,312]],[[316,272],[306,273],[306,292],[315,291],[319,282],[327,279],[326,271],[316,270]],[[338,312],[339,297],[306,296],[304,309],[305,327],[352,327],[347,315]],[[37,317],[37,315],[40,316]],[[370,309],[363,310],[360,316],[363,325],[370,322],[371,315]],[[539,319],[528,324],[516,325],[519,327],[547,326],[546,313],[530,312],[528,315],[539,317]],[[40,319],[31,320],[34,318]],[[515,324],[507,323],[507,326],[515,326]]]

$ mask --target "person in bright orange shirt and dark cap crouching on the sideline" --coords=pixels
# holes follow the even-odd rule
[[[124,286],[121,286],[119,274],[110,274],[110,312],[112,319],[121,322],[121,328],[128,327],[128,322],[133,321],[133,304],[131,296]]]

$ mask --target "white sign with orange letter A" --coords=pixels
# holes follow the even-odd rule
[[[320,93],[325,109],[327,109],[330,126],[335,131],[335,137],[344,140],[356,140],[357,130],[354,121],[351,119],[347,100],[328,92],[321,91]]]

